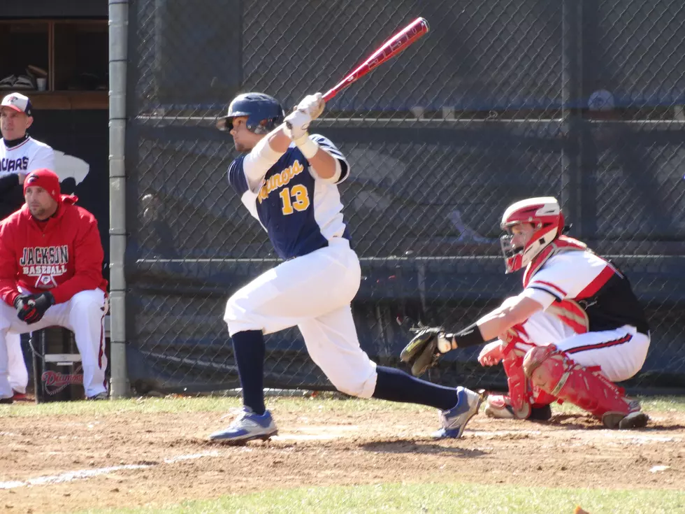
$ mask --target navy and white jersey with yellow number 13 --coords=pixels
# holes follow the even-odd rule
[[[337,183],[315,180],[309,162],[294,144],[266,172],[257,190],[250,190],[247,183],[244,155],[229,166],[229,183],[282,259],[324,248],[333,237],[349,239],[337,185],[347,178],[349,164],[329,139],[319,134],[310,138],[340,161],[343,173]]]

